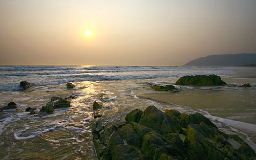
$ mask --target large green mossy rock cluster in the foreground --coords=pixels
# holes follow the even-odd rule
[[[120,125],[92,123],[99,159],[237,160],[255,159],[254,150],[237,135],[227,135],[199,113],[165,113],[155,106],[133,110]]]

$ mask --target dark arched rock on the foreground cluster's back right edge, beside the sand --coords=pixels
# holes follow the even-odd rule
[[[179,121],[179,124],[183,128],[187,128],[187,126],[191,123],[194,124],[200,124],[201,122],[204,122],[208,126],[215,127],[217,128],[208,118],[204,117],[200,113],[194,113],[194,114],[189,114],[189,115],[183,115],[181,120]]]

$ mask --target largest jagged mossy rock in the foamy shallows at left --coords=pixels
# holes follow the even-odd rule
[[[70,107],[70,102],[66,98],[52,97],[51,101],[42,107],[40,112],[53,113],[56,108]]]

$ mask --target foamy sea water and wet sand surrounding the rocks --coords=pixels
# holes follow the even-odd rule
[[[149,105],[162,111],[200,112],[219,129],[238,134],[256,149],[256,79],[252,76],[255,70],[242,67],[1,66],[0,107],[14,101],[18,109],[0,112],[0,159],[95,159],[90,128],[94,101],[103,106],[99,112],[105,123],[124,121],[131,110],[144,110]],[[150,84],[174,85],[181,76],[198,74],[219,75],[228,85],[176,86],[181,89],[179,93],[150,88]],[[32,87],[21,91],[19,83],[24,80]],[[67,89],[67,82],[76,87]],[[239,87],[244,83],[253,87]],[[69,99],[70,108],[56,109],[53,114],[25,112],[27,107],[40,110],[53,96],[70,95],[75,96]]]

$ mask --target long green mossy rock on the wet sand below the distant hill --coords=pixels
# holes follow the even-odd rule
[[[196,75],[196,76],[183,76],[176,81],[176,85],[194,85],[194,86],[214,86],[224,85],[226,82],[221,80],[217,75]]]

